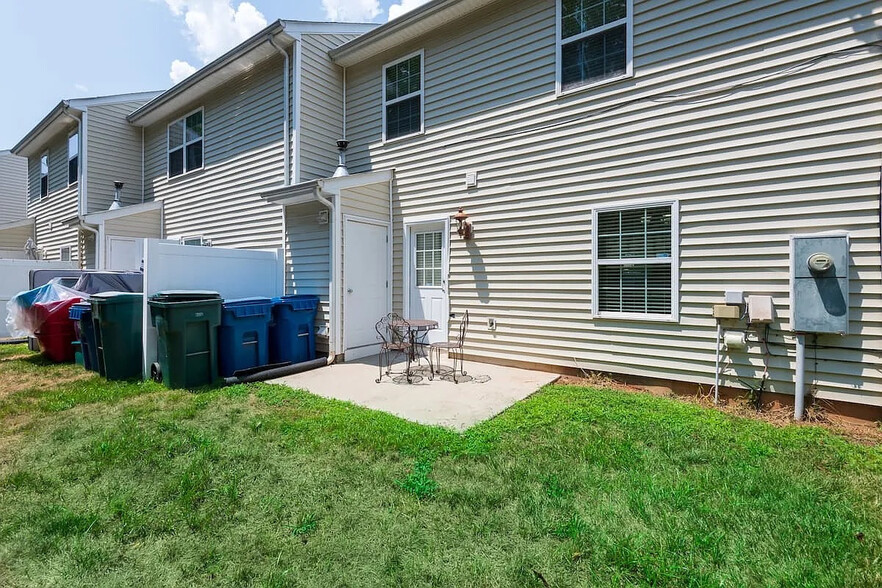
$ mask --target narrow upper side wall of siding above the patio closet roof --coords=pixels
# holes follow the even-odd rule
[[[343,138],[343,68],[328,51],[354,34],[303,35],[300,90],[300,181],[327,178]]]

